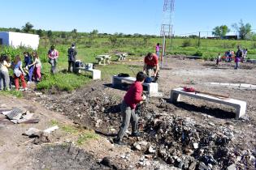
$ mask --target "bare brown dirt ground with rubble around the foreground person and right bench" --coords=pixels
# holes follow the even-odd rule
[[[143,136],[132,138],[127,134],[124,141],[128,145],[125,147],[115,146],[111,142],[119,130],[119,104],[128,88],[126,84],[115,89],[111,87],[111,79],[105,79],[72,93],[36,96],[34,92],[27,92],[24,99],[1,96],[1,110],[23,107],[41,121],[34,125],[14,125],[0,121],[0,169],[204,169],[205,165],[208,169],[225,169],[232,164],[238,169],[254,169],[256,89],[211,84],[256,85],[254,64],[241,63],[239,70],[233,67],[234,63],[221,62],[215,66],[215,62],[183,60],[183,57],[178,56],[168,58],[167,66],[163,66],[158,81],[163,97],[152,97],[149,103],[137,108]],[[170,104],[168,99],[171,89],[184,86],[244,100],[247,103],[246,115],[236,120],[234,108],[189,97],[182,97],[182,102],[178,104]],[[22,135],[29,127],[46,129],[51,126],[52,120],[94,130],[100,138],[78,147],[74,144],[77,138],[63,130],[50,134],[50,143],[39,145],[28,142],[31,139]],[[169,121],[170,124],[167,123]],[[168,129],[180,131],[165,132]],[[191,136],[193,129],[199,133],[197,135],[200,140]],[[182,142],[184,132],[190,133],[188,143]],[[224,138],[225,142],[218,144],[215,141],[213,146],[209,143],[203,146],[205,142],[202,142],[202,136],[211,133],[218,138],[221,136],[221,141]],[[229,135],[231,137],[227,139]],[[191,147],[195,141],[200,144],[200,151],[203,149],[206,152],[206,148],[212,147],[212,154],[210,151],[197,154],[199,149]],[[149,151],[149,147],[156,151]],[[187,149],[193,154],[188,154]],[[228,153],[219,155],[220,150],[228,150]],[[216,161],[207,162],[205,158],[210,155]],[[248,159],[245,161],[244,157]],[[107,161],[101,164],[103,158]],[[189,162],[186,162],[188,158]]]

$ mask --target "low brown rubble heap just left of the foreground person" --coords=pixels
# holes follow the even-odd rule
[[[90,128],[119,126],[120,100],[107,96],[101,90],[78,91],[76,95],[38,100],[47,109],[64,113]],[[83,95],[81,95],[83,94]]]

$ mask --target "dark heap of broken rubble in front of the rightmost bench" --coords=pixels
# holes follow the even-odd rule
[[[146,120],[144,131],[151,153],[176,168],[224,169],[233,164],[241,169],[254,168],[255,153],[232,146],[232,125],[199,125],[189,117],[153,113]]]

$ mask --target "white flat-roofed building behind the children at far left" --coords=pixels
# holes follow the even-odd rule
[[[35,34],[20,32],[0,32],[0,45],[9,45],[14,48],[20,46],[37,49],[39,45],[39,36]]]

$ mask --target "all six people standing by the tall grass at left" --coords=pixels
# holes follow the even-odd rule
[[[67,50],[68,56],[68,71],[74,72],[76,62],[75,44]],[[55,74],[57,72],[59,52],[54,45],[50,46],[48,51],[48,62],[50,63],[50,72]],[[20,55],[16,55],[11,62],[11,58],[2,53],[0,57],[0,90],[10,91],[10,74],[9,69],[13,70],[13,82],[15,89],[20,90],[20,82],[24,91],[28,90],[27,84],[41,81],[41,61],[36,51],[31,54],[24,52],[24,60]]]

